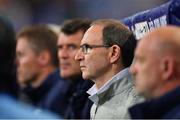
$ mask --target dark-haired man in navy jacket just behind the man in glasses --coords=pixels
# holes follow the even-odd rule
[[[58,58],[61,80],[52,90],[49,108],[66,119],[88,119],[92,102],[86,91],[91,87],[90,81],[82,79],[79,62],[74,60],[81,39],[89,28],[88,19],[67,20],[61,25],[58,38]],[[53,99],[59,99],[53,102]],[[54,106],[54,107],[53,107]],[[58,106],[57,109],[55,106]]]

